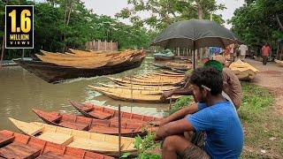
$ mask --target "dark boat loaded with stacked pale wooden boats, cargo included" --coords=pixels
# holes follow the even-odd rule
[[[63,54],[41,50],[42,55],[35,55],[41,61],[15,59],[14,62],[50,83],[57,83],[64,79],[124,72],[139,67],[145,57],[144,50],[70,51]]]

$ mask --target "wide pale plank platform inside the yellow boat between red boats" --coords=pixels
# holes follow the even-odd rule
[[[63,133],[42,133],[37,137],[41,140],[47,140],[50,142],[55,142],[60,145],[67,146],[73,141],[73,136],[63,134]]]

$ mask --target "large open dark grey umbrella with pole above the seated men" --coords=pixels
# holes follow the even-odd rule
[[[225,48],[231,43],[239,42],[230,30],[214,21],[190,19],[175,22],[167,27],[151,42],[151,45],[193,49],[195,69],[195,49],[209,46]]]

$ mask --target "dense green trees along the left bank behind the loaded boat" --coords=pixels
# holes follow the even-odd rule
[[[9,4],[33,4],[32,1],[13,1]],[[4,24],[4,2],[0,2],[0,17]],[[0,25],[0,42],[4,25]],[[62,52],[68,48],[84,49],[85,42],[118,42],[119,49],[147,49],[152,31],[145,27],[129,26],[109,16],[98,16],[80,0],[48,0],[34,4],[34,49]],[[5,59],[18,55],[17,49],[6,50]],[[19,54],[21,55],[21,54]]]

